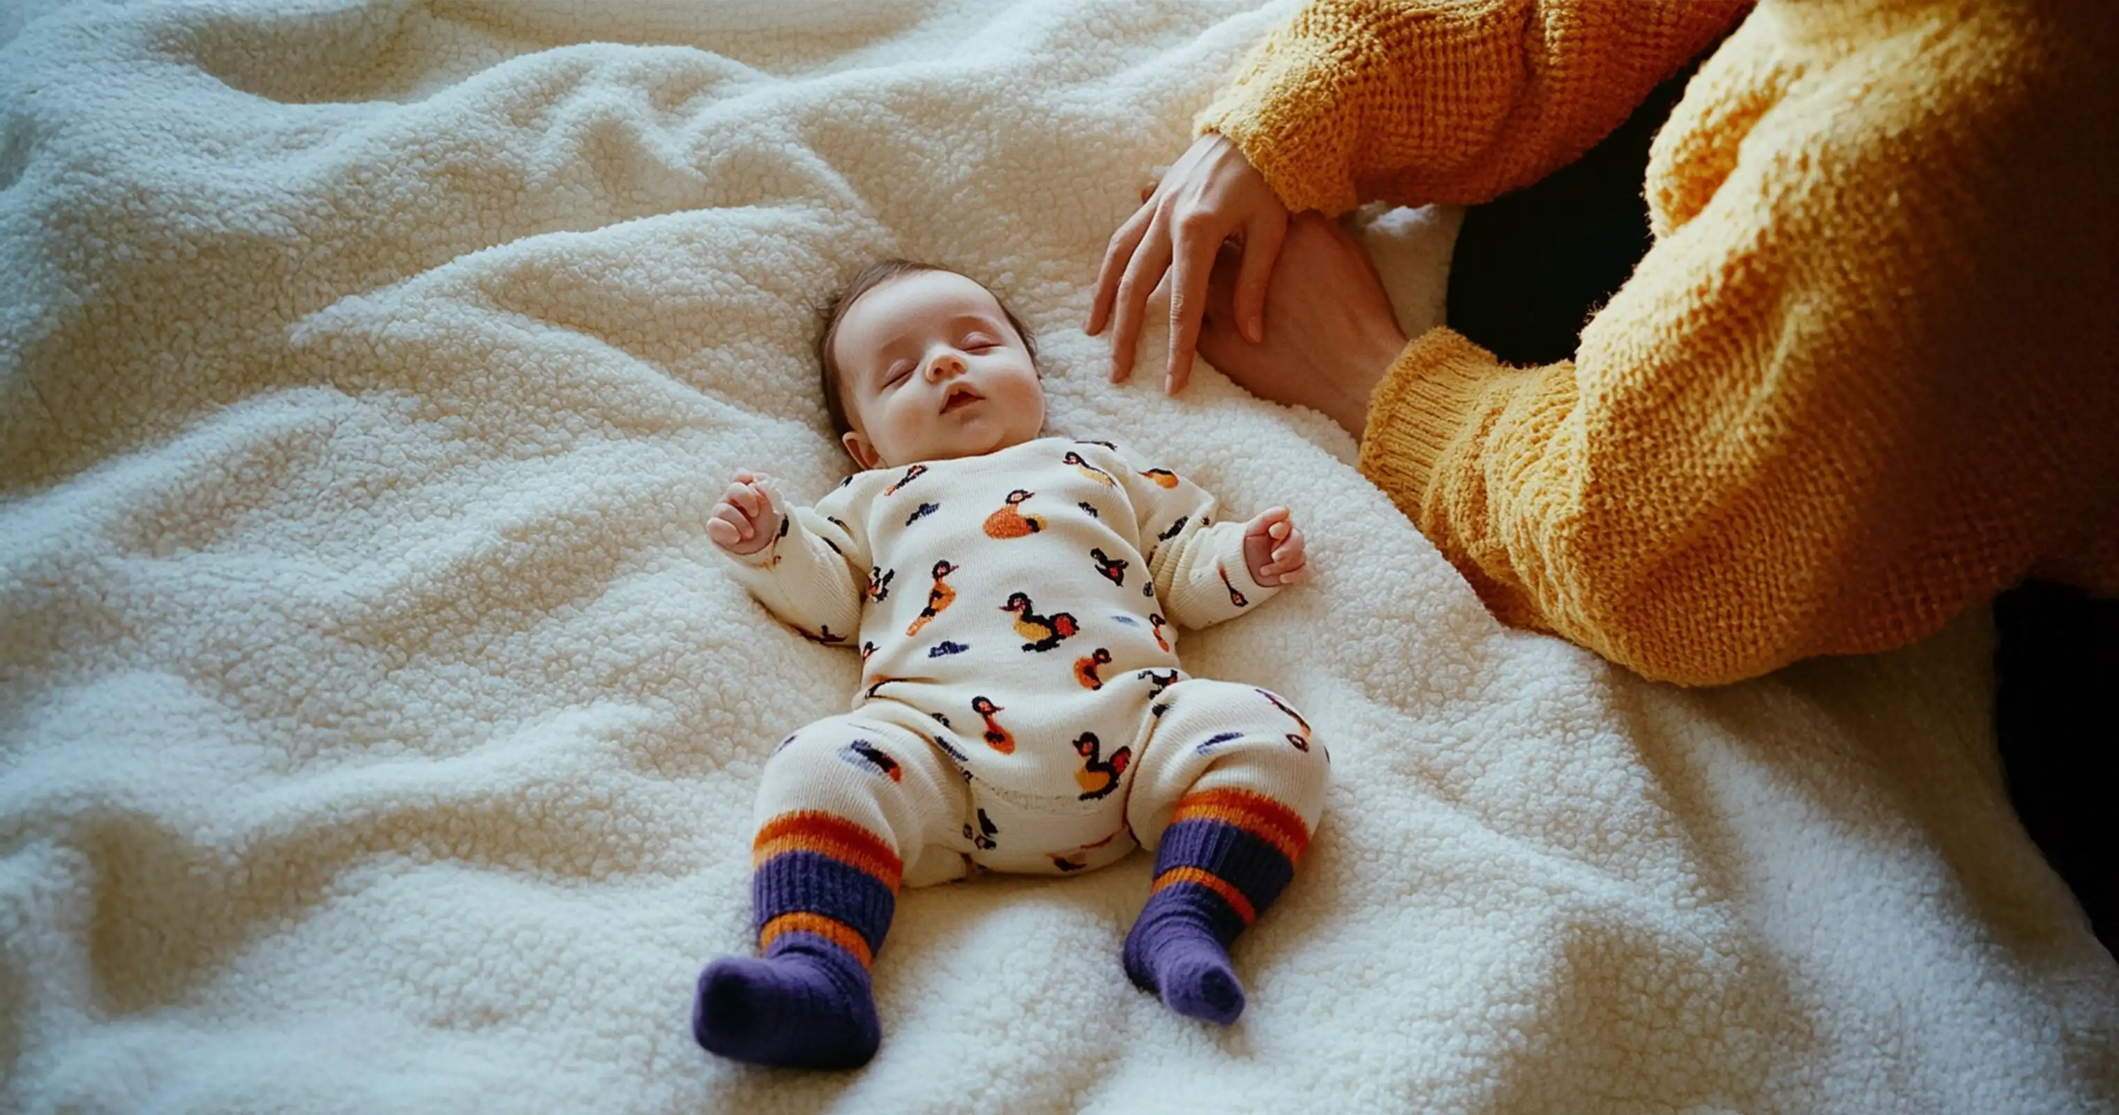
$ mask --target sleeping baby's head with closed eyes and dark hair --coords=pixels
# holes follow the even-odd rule
[[[954,271],[860,295],[833,337],[862,468],[1021,445],[1045,428],[1045,386],[1000,303]]]

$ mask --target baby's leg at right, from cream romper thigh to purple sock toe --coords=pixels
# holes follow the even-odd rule
[[[1295,875],[1329,759],[1265,689],[1193,678],[1161,706],[1125,801],[1140,846],[1155,848],[1125,973],[1182,1015],[1229,1024],[1244,1013],[1229,943]]]

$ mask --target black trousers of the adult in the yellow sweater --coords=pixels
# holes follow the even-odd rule
[[[1579,161],[1464,214],[1449,265],[1449,326],[1509,362],[1574,354],[1596,307],[1649,250],[1649,138],[1691,68]],[[2119,600],[2026,583],[1994,600],[1994,731],[2030,839],[2119,954]]]

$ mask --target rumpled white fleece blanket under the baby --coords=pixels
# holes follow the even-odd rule
[[[6,8],[0,1109],[2111,1111],[1981,621],[1646,685],[1498,627],[1318,415],[1102,379],[1104,237],[1284,17]],[[1447,216],[1371,235],[1432,322]],[[907,892],[860,1073],[693,1045],[759,767],[856,678],[704,524],[837,479],[814,309],[882,254],[1007,295],[1057,428],[1310,530],[1187,640],[1337,763],[1233,1028],[1125,981],[1134,856]]]

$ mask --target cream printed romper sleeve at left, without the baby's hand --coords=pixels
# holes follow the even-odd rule
[[[871,566],[867,547],[848,528],[852,515],[839,507],[845,492],[788,511],[780,536],[756,553],[720,551],[759,604],[814,642],[839,644],[860,634]]]

